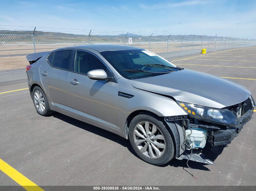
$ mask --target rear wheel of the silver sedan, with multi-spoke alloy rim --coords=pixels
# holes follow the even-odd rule
[[[35,109],[39,115],[48,116],[53,113],[53,111],[50,109],[47,97],[44,91],[40,87],[35,86],[33,88],[32,100],[33,100]]]

